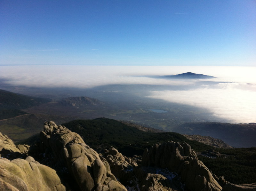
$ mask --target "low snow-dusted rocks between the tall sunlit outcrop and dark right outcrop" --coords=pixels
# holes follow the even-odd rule
[[[115,148],[105,150],[113,174],[132,191],[182,191],[183,185],[176,174],[168,169],[141,166],[139,156],[126,157]],[[168,178],[167,178],[168,177]]]

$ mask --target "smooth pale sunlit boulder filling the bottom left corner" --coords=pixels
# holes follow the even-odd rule
[[[66,191],[52,168],[31,156],[12,161],[0,159],[0,190],[3,191]]]

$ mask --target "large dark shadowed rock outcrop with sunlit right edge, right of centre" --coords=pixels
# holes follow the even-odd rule
[[[188,190],[220,191],[222,189],[187,143],[165,142],[154,145],[150,150],[145,150],[142,165],[167,168],[177,172]]]

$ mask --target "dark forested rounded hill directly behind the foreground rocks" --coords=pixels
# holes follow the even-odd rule
[[[210,148],[210,146],[193,142],[179,133],[145,132],[140,130],[142,128],[129,123],[108,118],[74,120],[62,125],[82,136],[93,149],[114,146],[126,156],[142,155],[144,148],[167,140],[186,141],[200,151]]]

